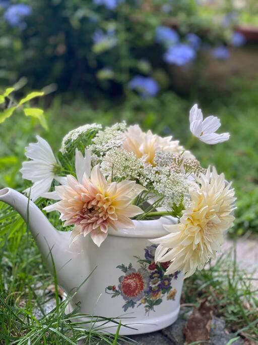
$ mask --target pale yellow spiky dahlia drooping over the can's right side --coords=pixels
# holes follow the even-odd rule
[[[200,174],[200,186],[190,190],[191,203],[178,224],[164,225],[168,235],[151,240],[160,243],[155,261],[171,261],[166,274],[182,271],[189,277],[203,269],[216,256],[223,243],[223,232],[232,226],[234,189],[226,185],[224,174],[210,168]]]

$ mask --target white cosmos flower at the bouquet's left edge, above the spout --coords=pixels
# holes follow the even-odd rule
[[[55,175],[56,167],[58,166],[52,149],[48,142],[36,136],[38,142],[30,143],[26,147],[25,156],[30,159],[28,162],[23,162],[22,177],[33,182],[31,188],[24,190],[27,194],[30,193],[30,199],[35,201],[39,196],[47,198],[53,179],[59,183],[64,182],[64,178]]]

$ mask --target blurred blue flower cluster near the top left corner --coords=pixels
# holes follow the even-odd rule
[[[22,26],[25,23],[23,18],[32,13],[31,7],[25,4],[11,5],[4,14],[5,20],[12,26]]]

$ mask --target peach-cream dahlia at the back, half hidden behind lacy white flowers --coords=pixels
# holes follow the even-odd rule
[[[139,125],[129,126],[124,133],[123,148],[133,152],[137,158],[143,158],[146,163],[154,165],[154,157],[157,152],[183,153],[185,158],[194,158],[189,151],[184,151],[178,140],[171,140],[172,136],[162,138],[148,130],[143,132]]]

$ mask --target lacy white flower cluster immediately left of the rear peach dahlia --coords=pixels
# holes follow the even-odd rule
[[[93,144],[89,146],[91,151],[96,151],[103,156],[107,151],[120,147],[124,140],[124,131],[126,129],[125,121],[115,123],[111,127],[106,127],[103,131],[99,131],[92,140]]]

